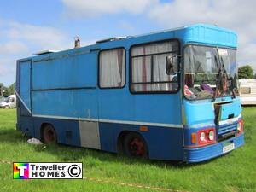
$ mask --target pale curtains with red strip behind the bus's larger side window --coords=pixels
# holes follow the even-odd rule
[[[171,43],[144,45],[131,50],[131,55],[137,56],[132,59],[132,82],[148,83],[133,84],[134,91],[168,91],[175,89],[176,86],[172,87],[172,83],[155,83],[172,81],[174,76],[166,74],[166,56],[172,54],[154,55],[172,50]]]

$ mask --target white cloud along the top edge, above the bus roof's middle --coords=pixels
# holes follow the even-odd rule
[[[157,2],[158,0],[62,0],[67,15],[73,17],[122,13],[137,15]]]

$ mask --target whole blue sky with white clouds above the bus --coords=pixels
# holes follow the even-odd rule
[[[15,82],[16,60],[115,36],[207,23],[238,34],[237,62],[256,72],[253,0],[0,0],[0,83]]]

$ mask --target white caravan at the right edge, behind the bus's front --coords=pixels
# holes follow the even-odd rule
[[[256,79],[239,79],[241,105],[256,105]]]

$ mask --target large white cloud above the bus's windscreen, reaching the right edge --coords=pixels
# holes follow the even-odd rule
[[[175,0],[158,3],[148,17],[164,27],[210,23],[238,33],[237,61],[256,69],[256,1],[250,0]]]

